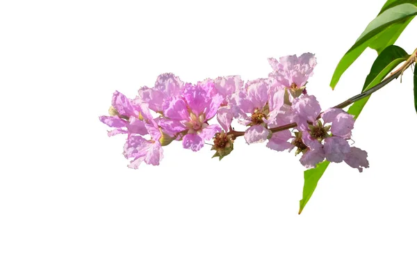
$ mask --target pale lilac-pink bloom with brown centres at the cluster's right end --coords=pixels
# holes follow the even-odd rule
[[[350,147],[347,142],[352,136],[353,116],[342,109],[329,108],[322,114],[322,120],[316,120],[320,110],[320,104],[312,95],[294,99],[291,111],[298,132],[292,136],[291,133],[279,131],[270,138],[267,147],[277,151],[291,151],[297,147],[297,153],[302,152],[300,162],[308,168],[316,167],[325,159],[335,163],[345,161],[359,171],[368,167],[366,152]]]

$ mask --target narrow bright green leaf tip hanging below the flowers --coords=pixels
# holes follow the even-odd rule
[[[322,163],[318,163],[316,168],[304,171],[304,188],[302,189],[302,199],[300,199],[300,211],[298,211],[298,214],[302,212],[304,206],[309,202],[327,166],[329,166],[329,161],[323,161]]]

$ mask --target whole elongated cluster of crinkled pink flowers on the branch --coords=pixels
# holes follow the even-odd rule
[[[140,88],[135,99],[114,92],[110,115],[99,120],[114,128],[108,136],[126,133],[124,156],[135,169],[142,161],[158,165],[163,147],[174,140],[194,152],[213,140],[213,157],[222,159],[239,136],[247,144],[267,141],[266,147],[276,151],[295,148],[307,168],[325,159],[345,161],[360,172],[368,167],[367,153],[350,144],[353,116],[340,108],[322,112],[316,97],[307,94],[314,55],[268,61],[268,77],[246,82],[240,76],[224,76],[193,85],[174,74],[161,74],[153,88]],[[234,120],[246,130],[236,131]]]

